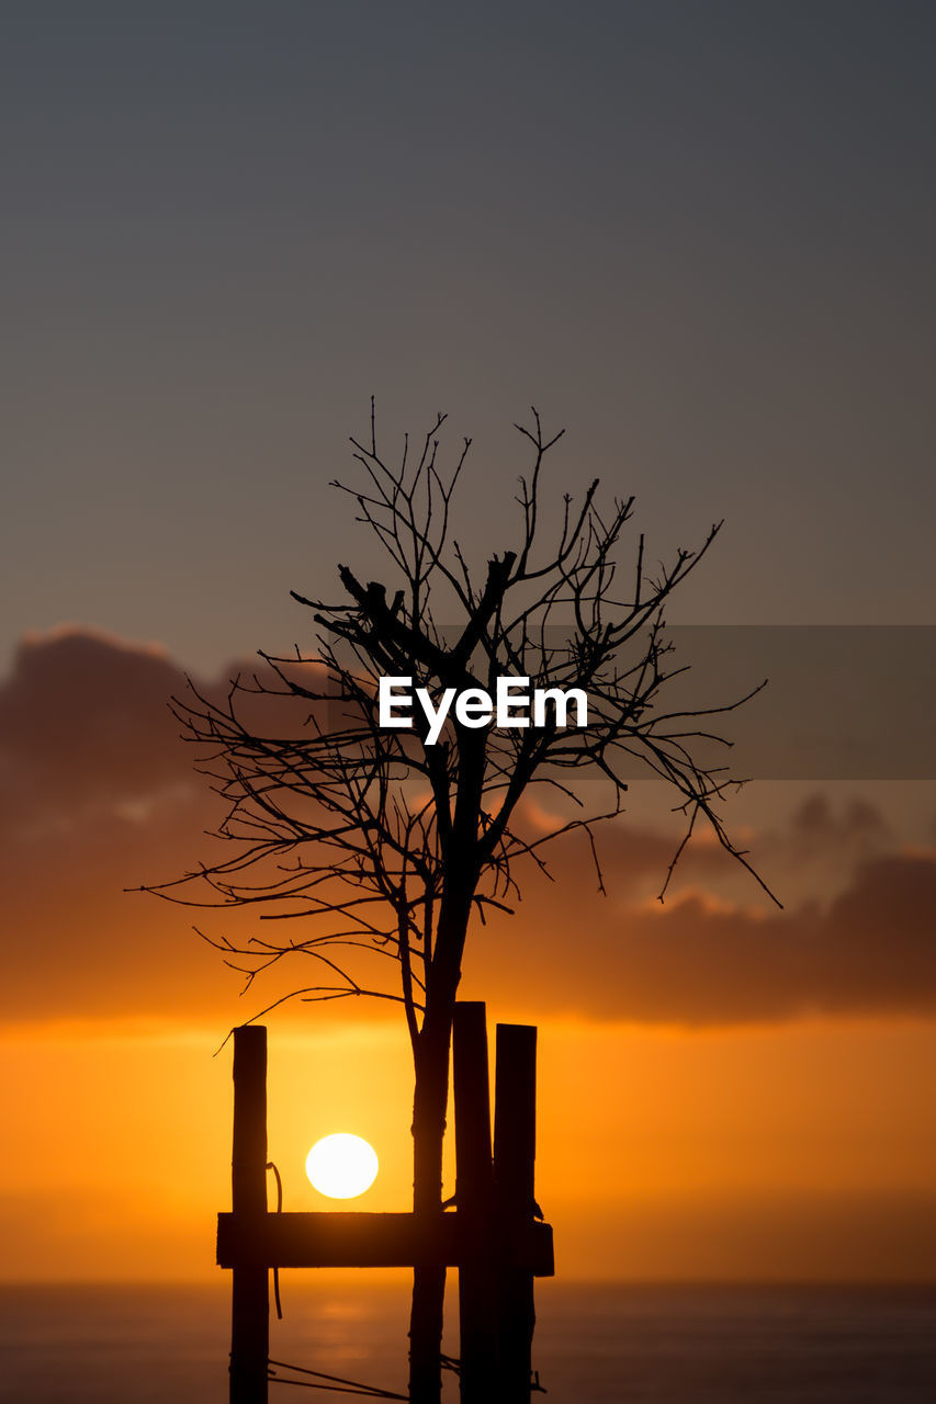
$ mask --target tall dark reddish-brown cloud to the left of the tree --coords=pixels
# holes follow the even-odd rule
[[[184,687],[162,651],[90,630],[18,649],[0,688],[7,1018],[223,1007],[183,914],[122,890],[188,866],[218,813],[167,706]]]

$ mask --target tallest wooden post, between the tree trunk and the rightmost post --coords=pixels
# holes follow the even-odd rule
[[[455,1200],[462,1258],[458,1265],[460,1391],[465,1404],[489,1404],[498,1386],[498,1317],[493,1273],[493,1167],[488,1026],[482,1002],[455,1004]]]

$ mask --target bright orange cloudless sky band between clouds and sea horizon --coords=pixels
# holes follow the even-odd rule
[[[512,1011],[506,1011],[509,1015]],[[304,1160],[353,1130],[408,1205],[409,1053],[395,1024],[270,1035],[287,1209],[330,1207]],[[684,1033],[540,1025],[538,1198],[566,1278],[928,1278],[936,1127],[925,1024]],[[229,1196],[229,1049],[205,1028],[37,1025],[0,1047],[4,1278],[205,1278]]]

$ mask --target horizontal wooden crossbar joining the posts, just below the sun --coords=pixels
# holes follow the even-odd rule
[[[485,1252],[478,1223],[458,1213],[415,1214],[267,1213],[218,1214],[221,1268],[457,1268]],[[496,1236],[496,1259],[551,1278],[552,1226],[516,1220]]]

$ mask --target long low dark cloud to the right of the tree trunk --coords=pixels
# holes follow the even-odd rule
[[[514,929],[490,922],[475,939],[472,987],[496,979],[531,1008],[652,1024],[936,1015],[933,854],[863,859],[829,903],[776,914],[706,890],[602,900],[573,872],[557,863],[548,892],[528,885]]]

